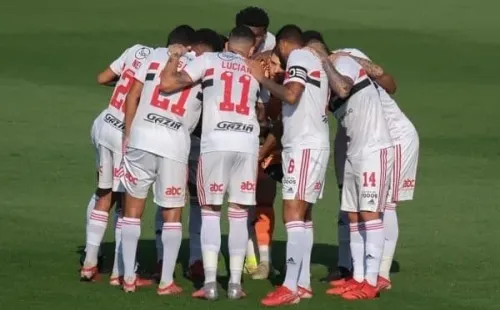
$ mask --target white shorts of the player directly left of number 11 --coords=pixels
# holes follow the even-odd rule
[[[154,202],[163,208],[184,207],[186,202],[187,164],[153,153],[127,148],[123,157],[122,182],[127,193],[146,199],[154,183]]]

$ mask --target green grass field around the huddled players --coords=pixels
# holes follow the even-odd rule
[[[346,3],[347,2],[347,3]],[[19,0],[0,4],[0,309],[254,309],[271,289],[245,281],[238,302],[125,295],[80,283],[87,201],[95,186],[91,121],[111,89],[96,74],[133,43],[163,45],[179,23],[228,31],[241,0]],[[313,288],[301,309],[499,309],[500,4],[494,0],[252,1],[271,29],[298,23],[330,46],[358,47],[399,82],[398,102],[421,138],[416,199],[399,209],[400,270],[377,301],[323,294],[335,263],[333,163],[316,207]],[[333,124],[332,120],[332,124]],[[335,126],[332,126],[335,127]],[[277,203],[279,206],[280,203]],[[154,260],[154,209],[140,258]],[[186,214],[187,215],[187,214]],[[112,251],[111,234],[105,251]],[[277,251],[284,247],[278,225]],[[281,249],[281,250],[280,250]],[[182,259],[186,257],[183,247]],[[284,256],[277,256],[283,264]],[[181,274],[179,264],[178,274]],[[224,270],[221,270],[223,273]],[[190,293],[190,282],[180,284]]]

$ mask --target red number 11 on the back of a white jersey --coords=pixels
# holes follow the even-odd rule
[[[231,95],[233,94],[233,73],[225,71],[221,74],[220,78],[224,82],[224,98],[219,105],[219,109],[221,111],[248,115],[250,113],[250,107],[248,106],[248,93],[250,92],[251,77],[245,74],[240,76],[238,79],[238,82],[242,86],[239,104],[231,102]]]

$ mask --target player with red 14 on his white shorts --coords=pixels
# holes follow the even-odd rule
[[[378,296],[384,247],[381,212],[392,177],[392,141],[378,90],[367,70],[348,56],[330,60],[323,44],[314,46],[338,96],[331,109],[348,137],[341,210],[349,217],[353,278],[327,294],[372,299]]]

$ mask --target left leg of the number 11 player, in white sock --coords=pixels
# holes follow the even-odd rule
[[[201,206],[201,252],[205,284],[203,288],[193,293],[193,297],[216,300],[217,293],[217,264],[221,245],[220,232],[221,206]],[[246,244],[245,244],[246,245]]]

